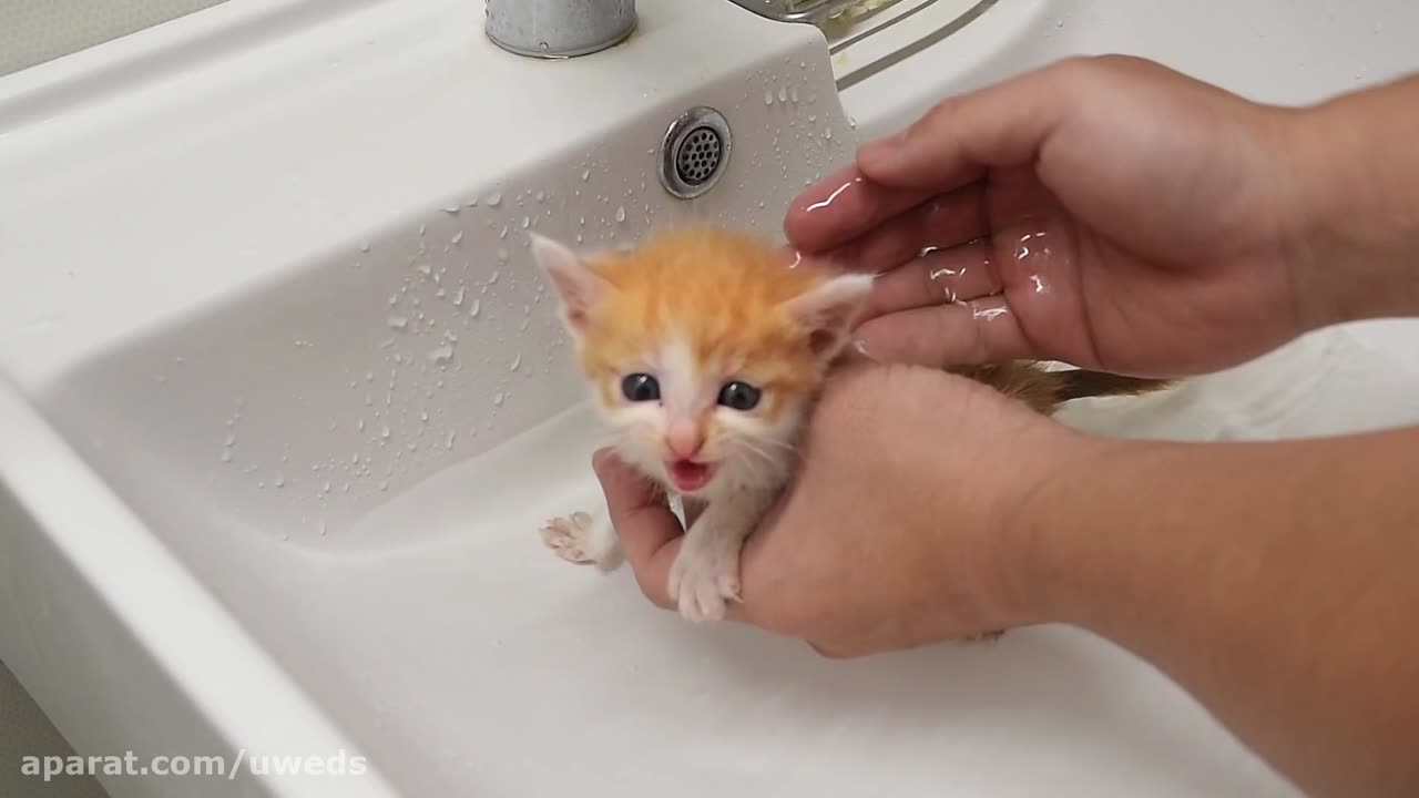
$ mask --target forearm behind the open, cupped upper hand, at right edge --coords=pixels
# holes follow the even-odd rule
[[[1419,75],[1290,115],[1310,327],[1419,315]]]

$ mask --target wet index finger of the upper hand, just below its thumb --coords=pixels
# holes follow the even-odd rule
[[[789,206],[783,233],[809,254],[833,250],[938,192],[888,189],[849,166],[806,189]]]

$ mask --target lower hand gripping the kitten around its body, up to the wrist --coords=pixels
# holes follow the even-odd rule
[[[1012,528],[1083,436],[934,369],[841,369],[795,481],[741,558],[729,618],[857,656],[1040,622]],[[651,483],[595,460],[626,559],[661,608],[683,528]]]

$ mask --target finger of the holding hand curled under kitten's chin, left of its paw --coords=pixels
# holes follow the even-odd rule
[[[674,606],[668,592],[670,565],[680,551],[684,530],[666,503],[664,493],[610,450],[597,452],[592,467],[602,483],[612,524],[616,525],[626,561],[636,572],[641,592],[658,606]]]

